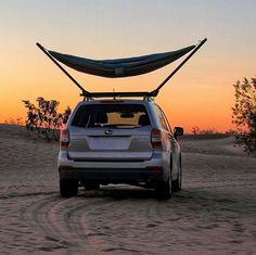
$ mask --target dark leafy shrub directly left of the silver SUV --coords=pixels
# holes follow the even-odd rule
[[[71,115],[69,106],[64,113],[57,113],[60,102],[56,100],[46,100],[39,97],[36,101],[37,105],[30,103],[29,100],[23,100],[25,107],[27,107],[26,128],[39,138],[59,140],[60,128],[63,127]]]

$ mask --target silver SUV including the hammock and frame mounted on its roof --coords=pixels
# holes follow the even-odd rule
[[[152,100],[171,77],[207,41],[177,51],[117,60],[90,60],[37,46],[81,90],[66,129],[61,132],[59,154],[62,196],[73,196],[79,186],[129,183],[154,188],[161,199],[181,189],[181,153],[176,140],[183,129],[171,131],[161,107]],[[59,63],[90,75],[130,77],[158,69],[190,54],[153,91],[89,92]],[[118,97],[118,100],[116,98]],[[143,100],[123,98],[143,97]],[[112,98],[92,100],[92,98]]]

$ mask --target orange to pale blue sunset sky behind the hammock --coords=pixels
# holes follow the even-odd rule
[[[187,131],[231,124],[232,85],[256,76],[255,0],[0,0],[0,123],[26,118],[22,100],[56,99],[72,109],[79,90],[36,47],[89,59],[178,50],[208,38],[155,101]],[[180,63],[131,78],[67,71],[89,91],[153,90]]]

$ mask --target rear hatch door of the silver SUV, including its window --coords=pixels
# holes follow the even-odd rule
[[[87,106],[87,107],[86,107]],[[144,161],[152,156],[151,125],[144,105],[84,105],[69,127],[68,156],[75,161]],[[79,112],[79,111],[78,111]]]

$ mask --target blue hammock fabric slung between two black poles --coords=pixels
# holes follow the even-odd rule
[[[195,46],[190,46],[171,52],[117,60],[90,60],[50,50],[48,52],[55,60],[76,71],[107,78],[118,78],[153,72],[178,60],[194,48]]]

